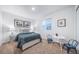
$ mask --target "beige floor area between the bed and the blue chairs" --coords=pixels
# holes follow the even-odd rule
[[[64,54],[66,51],[61,50],[61,47],[57,43],[48,44],[46,42],[41,42],[29,49],[26,49],[24,54]]]

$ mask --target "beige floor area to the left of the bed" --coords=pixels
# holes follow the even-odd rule
[[[21,50],[16,48],[16,42],[7,42],[0,46],[0,54],[17,54],[21,53]]]

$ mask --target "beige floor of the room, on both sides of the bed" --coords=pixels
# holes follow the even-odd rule
[[[38,43],[31,48],[21,51],[16,48],[16,42],[8,42],[0,47],[0,54],[63,54],[64,50],[61,51],[61,47],[57,43],[48,44],[47,41]]]

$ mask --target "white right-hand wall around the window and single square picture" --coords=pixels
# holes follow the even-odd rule
[[[41,22],[47,18],[52,18],[52,21],[54,21],[54,27],[51,31],[45,31],[41,28]],[[57,20],[66,18],[66,27],[57,27]],[[66,40],[69,39],[75,39],[75,8],[67,8],[60,11],[57,11],[55,13],[51,13],[48,16],[45,16],[42,18],[42,20],[39,22],[38,31],[42,34],[42,36],[45,38],[46,33],[51,33],[53,36],[55,33],[58,33],[59,35],[63,35],[66,37]]]

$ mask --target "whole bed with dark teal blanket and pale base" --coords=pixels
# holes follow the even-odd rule
[[[21,48],[22,50],[41,42],[41,40],[40,34],[35,32],[19,33],[15,38],[15,41],[18,42],[17,48]]]

